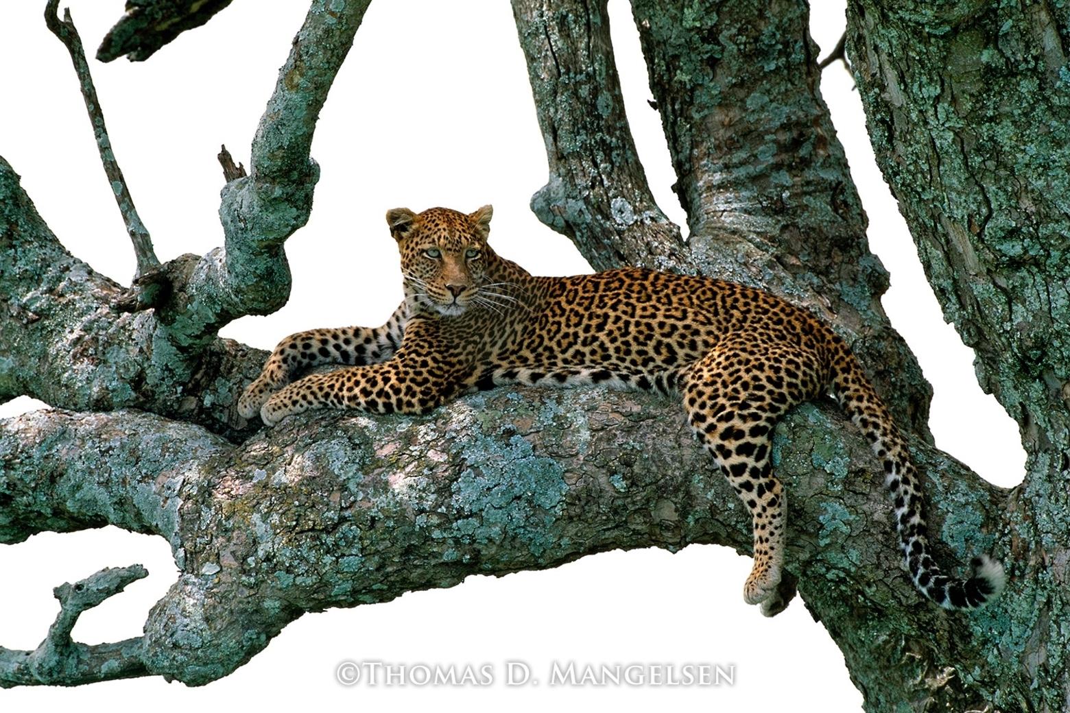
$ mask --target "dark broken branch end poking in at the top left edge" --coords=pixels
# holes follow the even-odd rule
[[[126,55],[142,62],[186,30],[198,28],[231,0],[126,0],[126,14],[116,22],[100,48],[102,62]]]

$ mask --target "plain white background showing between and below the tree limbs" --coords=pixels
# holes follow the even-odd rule
[[[133,251],[101,170],[64,47],[45,29],[44,0],[0,10],[0,155],[48,224],[76,255],[127,283]],[[826,53],[842,32],[843,3],[815,3],[812,32]],[[72,12],[90,51],[122,13],[121,0],[76,0]],[[216,211],[226,143],[248,162],[248,145],[306,4],[242,0],[181,36],[148,63],[91,60],[114,152],[162,260],[204,253],[223,241]],[[638,35],[624,0],[610,1],[613,40],[639,152],[661,207],[684,215],[669,186],[669,155],[649,96]],[[1013,422],[978,389],[973,354],[944,324],[905,226],[874,164],[853,81],[826,69],[822,91],[869,214],[869,238],[891,272],[885,306],[936,388],[937,445],[985,478],[1013,485],[1024,453]],[[400,299],[397,257],[383,214],[406,205],[472,211],[493,203],[491,239],[536,274],[588,272],[564,237],[528,208],[547,176],[546,156],[509,4],[505,0],[377,0],[338,75],[312,145],[322,167],[308,226],[287,243],[289,304],[245,317],[224,336],[270,348],[299,329],[378,325]],[[3,345],[0,345],[2,354]],[[41,404],[19,399],[10,416]],[[880,479],[874,477],[874,487]],[[888,537],[892,537],[889,531]],[[890,551],[889,551],[890,552]],[[151,576],[86,614],[78,640],[137,636],[148,608],[173,580],[166,543],[114,528],[43,533],[0,545],[0,645],[33,649],[55,617],[51,588],[104,567],[144,563]],[[339,710],[446,707],[542,711],[548,706],[765,711],[820,706],[857,711],[842,656],[796,600],[763,619],[743,603],[749,558],[690,546],[607,553],[549,572],[471,577],[448,590],[308,615],[230,677],[201,688],[149,678],[93,686],[0,691],[0,710],[270,710],[309,704]],[[919,605],[923,605],[919,600]],[[735,665],[734,686],[716,688],[345,688],[343,660]],[[9,708],[10,707],[10,708]],[[339,708],[340,707],[340,708]]]

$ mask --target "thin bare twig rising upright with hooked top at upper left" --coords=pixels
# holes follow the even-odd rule
[[[152,248],[152,238],[146,230],[141,218],[134,207],[134,199],[131,198],[126,188],[126,181],[123,172],[119,169],[111,150],[111,141],[108,139],[108,129],[104,125],[104,112],[101,109],[101,102],[96,96],[96,89],[93,87],[93,78],[89,73],[89,64],[86,61],[86,51],[81,46],[81,37],[71,21],[71,11],[63,11],[63,20],[60,20],[59,0],[48,0],[45,7],[45,24],[52,34],[60,38],[71,53],[71,61],[74,63],[75,72],[78,75],[78,83],[81,88],[81,96],[86,102],[86,109],[89,111],[89,121],[93,125],[93,134],[96,138],[96,148],[101,152],[101,161],[104,164],[104,172],[111,184],[111,190],[116,195],[116,202],[119,211],[123,215],[123,222],[126,223],[126,232],[129,233],[134,243],[134,255],[137,259],[137,273],[135,279],[148,273],[153,267],[159,265],[156,253]]]

